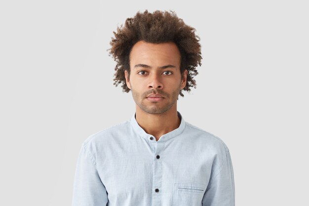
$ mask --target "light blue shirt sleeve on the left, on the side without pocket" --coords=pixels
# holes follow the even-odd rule
[[[107,191],[99,177],[94,156],[84,143],[77,159],[72,206],[106,206]]]

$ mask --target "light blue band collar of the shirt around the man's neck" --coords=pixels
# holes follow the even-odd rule
[[[173,131],[170,131],[166,134],[163,134],[158,141],[167,141],[179,134],[181,134],[185,127],[186,123],[184,118],[181,116],[181,114],[177,111],[178,117],[181,119],[180,125],[178,128],[174,129]],[[152,134],[146,133],[146,131],[137,123],[135,119],[136,112],[132,115],[130,124],[133,127],[134,131],[141,136],[142,138],[145,138],[147,141],[156,142],[155,137]],[[152,138],[151,138],[152,137]]]

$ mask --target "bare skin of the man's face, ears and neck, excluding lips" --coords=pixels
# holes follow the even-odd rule
[[[186,86],[188,71],[180,73],[181,54],[174,42],[138,41],[130,53],[130,76],[125,71],[128,88],[136,103],[136,121],[156,141],[178,128],[179,91]],[[150,94],[161,94],[161,101],[150,101]]]

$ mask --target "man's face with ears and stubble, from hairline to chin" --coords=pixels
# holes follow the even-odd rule
[[[185,70],[181,76],[180,58],[179,49],[173,42],[138,41],[132,47],[130,77],[125,71],[125,79],[137,109],[162,114],[177,106],[179,91],[186,86],[188,72]]]

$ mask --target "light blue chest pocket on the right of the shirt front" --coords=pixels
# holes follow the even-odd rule
[[[206,185],[175,183],[173,206],[201,206]]]

